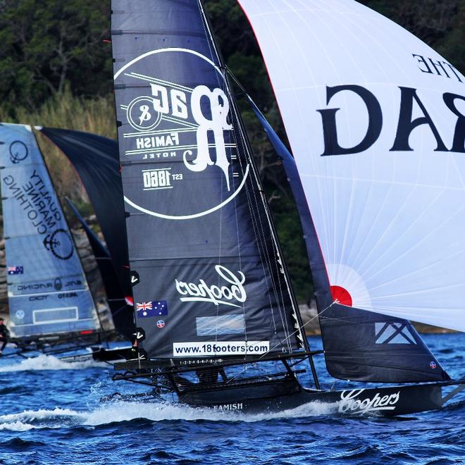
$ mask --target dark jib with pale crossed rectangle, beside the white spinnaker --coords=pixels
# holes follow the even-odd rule
[[[330,289],[294,158],[252,99],[248,97],[248,100],[283,161],[297,204],[314,281],[328,373],[335,378],[378,383],[450,379],[408,320],[356,309],[349,302],[341,302],[346,305],[337,303]]]

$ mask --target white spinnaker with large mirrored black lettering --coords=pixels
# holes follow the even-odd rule
[[[409,135],[412,151],[390,150],[399,87],[416,89],[450,150],[457,115],[443,94],[464,96],[465,77],[420,39],[354,1],[238,1],[266,61],[330,284],[344,287],[360,309],[465,330],[464,141],[461,153],[435,151],[430,126],[418,125]],[[318,110],[339,109],[340,146],[354,147],[366,135],[368,111],[358,94],[337,92],[327,104],[326,87],[342,85],[368,89],[383,125],[364,151],[321,156]],[[454,106],[465,115],[464,100],[454,99]],[[421,116],[414,101],[411,119]]]

